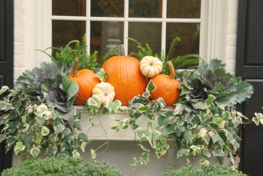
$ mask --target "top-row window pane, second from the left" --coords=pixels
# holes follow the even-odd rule
[[[123,17],[124,0],[92,0],[92,17]]]

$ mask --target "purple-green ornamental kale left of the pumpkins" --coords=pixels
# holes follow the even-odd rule
[[[27,70],[18,77],[18,88],[32,99],[40,98],[47,106],[55,106],[63,119],[72,121],[73,101],[79,90],[78,84],[71,81],[65,66],[61,68],[54,62],[41,63],[40,68]]]

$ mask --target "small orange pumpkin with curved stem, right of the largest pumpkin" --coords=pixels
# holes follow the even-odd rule
[[[155,100],[162,97],[166,103],[166,106],[172,106],[180,96],[181,90],[178,89],[180,82],[174,79],[174,65],[171,61],[167,62],[170,70],[170,76],[160,74],[152,78],[153,84],[156,89],[150,92],[150,98]]]

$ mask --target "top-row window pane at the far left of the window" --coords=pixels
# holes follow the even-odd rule
[[[52,15],[86,16],[86,0],[52,0]]]

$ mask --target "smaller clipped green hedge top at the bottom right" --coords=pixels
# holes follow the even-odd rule
[[[203,170],[199,170],[196,167],[182,167],[178,170],[171,170],[165,172],[161,176],[218,176],[218,175],[227,175],[227,176],[247,176],[241,171],[235,170],[228,166],[224,165],[204,165],[202,166]]]

